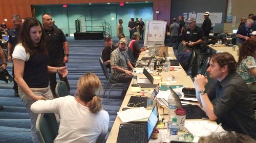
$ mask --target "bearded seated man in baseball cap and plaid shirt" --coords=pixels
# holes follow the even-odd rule
[[[118,48],[111,53],[110,65],[112,78],[118,81],[131,82],[132,66],[129,55],[127,54],[127,39],[121,38],[118,43]]]

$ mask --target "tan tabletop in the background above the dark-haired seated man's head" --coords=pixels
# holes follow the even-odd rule
[[[229,47],[229,46],[217,46],[217,45],[208,45],[208,47],[214,51],[223,51],[223,52],[228,52],[230,54],[232,54],[234,56],[234,59],[236,61],[238,61],[238,51],[239,51],[239,48],[238,46],[236,45],[236,50],[233,50],[232,47]]]

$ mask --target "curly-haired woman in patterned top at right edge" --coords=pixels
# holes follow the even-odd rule
[[[246,81],[252,94],[256,94],[256,40],[246,40],[239,49],[237,72]]]

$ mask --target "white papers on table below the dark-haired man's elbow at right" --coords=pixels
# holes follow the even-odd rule
[[[195,128],[196,127],[196,128]],[[207,121],[185,121],[185,128],[196,136],[208,136],[212,132],[225,131],[220,125],[209,123]],[[217,130],[216,130],[217,129]]]

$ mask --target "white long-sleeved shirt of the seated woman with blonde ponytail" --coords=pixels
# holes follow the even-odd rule
[[[55,143],[90,143],[103,139],[108,132],[109,113],[105,110],[97,114],[78,103],[73,96],[53,100],[38,100],[31,105],[35,113],[54,112],[60,115],[60,126]],[[102,140],[98,140],[102,141]]]

